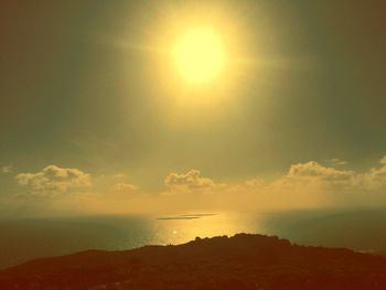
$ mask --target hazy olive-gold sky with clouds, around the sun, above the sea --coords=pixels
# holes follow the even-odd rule
[[[2,215],[379,206],[385,1],[4,1]],[[168,51],[213,29],[228,65]]]

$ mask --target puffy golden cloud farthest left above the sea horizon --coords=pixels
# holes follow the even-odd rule
[[[19,185],[30,193],[53,195],[92,185],[90,175],[78,170],[47,165],[40,172],[20,173],[15,176]]]

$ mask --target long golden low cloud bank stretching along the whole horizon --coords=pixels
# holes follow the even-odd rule
[[[333,165],[334,164],[334,165]],[[386,155],[365,172],[315,161],[292,164],[274,181],[251,179],[222,183],[199,170],[171,172],[159,193],[146,193],[125,175],[95,182],[78,169],[49,165],[34,173],[20,173],[21,189],[15,208],[33,212],[74,214],[161,213],[183,211],[256,211],[386,205]],[[22,206],[20,206],[22,205]],[[19,206],[19,207],[18,207]]]

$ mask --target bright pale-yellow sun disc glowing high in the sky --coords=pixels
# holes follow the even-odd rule
[[[195,29],[183,34],[172,54],[181,76],[193,84],[213,80],[226,63],[222,39],[210,29]]]

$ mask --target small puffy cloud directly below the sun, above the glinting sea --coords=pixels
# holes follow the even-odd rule
[[[170,173],[164,179],[164,184],[172,191],[203,191],[216,186],[213,180],[201,176],[199,170],[190,170],[186,173]]]

